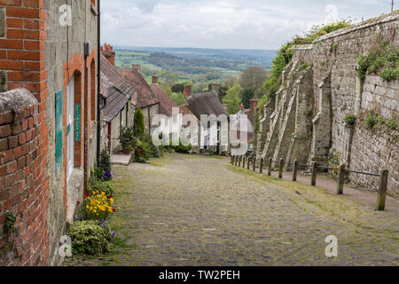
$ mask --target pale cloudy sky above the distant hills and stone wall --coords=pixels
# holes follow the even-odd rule
[[[365,20],[390,9],[391,0],[103,0],[101,41],[278,49],[314,24],[348,17]]]

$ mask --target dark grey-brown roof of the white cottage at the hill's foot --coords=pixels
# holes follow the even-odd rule
[[[190,107],[192,114],[197,116],[199,120],[201,114],[215,114],[216,116],[226,114],[229,116],[217,98],[215,91],[192,94],[188,99],[188,106]]]

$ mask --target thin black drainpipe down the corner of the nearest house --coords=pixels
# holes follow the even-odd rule
[[[101,145],[101,119],[100,119],[100,107],[99,107],[99,102],[100,102],[100,30],[101,30],[101,12],[100,12],[100,2],[101,0],[98,0],[98,15],[97,15],[97,24],[98,24],[98,35],[97,35],[97,164],[99,163],[99,154],[100,154],[100,145]]]

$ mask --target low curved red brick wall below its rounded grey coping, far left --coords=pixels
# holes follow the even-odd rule
[[[38,105],[17,114],[0,114],[0,266],[47,264],[46,145],[47,131]],[[15,232],[5,235],[7,211],[17,220]]]

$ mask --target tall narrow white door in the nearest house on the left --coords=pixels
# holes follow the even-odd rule
[[[66,87],[66,181],[74,170],[74,75]]]

